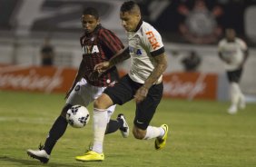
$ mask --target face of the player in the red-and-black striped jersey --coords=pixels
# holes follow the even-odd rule
[[[94,15],[82,15],[81,22],[86,33],[92,33],[97,25],[100,24],[99,19]]]

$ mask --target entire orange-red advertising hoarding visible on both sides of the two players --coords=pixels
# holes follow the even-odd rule
[[[77,70],[62,67],[0,65],[0,89],[65,93]],[[123,75],[124,72],[121,72]],[[163,96],[185,99],[217,99],[217,74],[169,73],[163,75]]]

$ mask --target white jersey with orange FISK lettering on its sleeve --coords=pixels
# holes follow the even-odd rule
[[[141,21],[136,32],[127,32],[131,55],[130,78],[144,83],[155,67],[154,55],[162,54],[164,47],[161,35],[146,22]],[[162,82],[162,75],[156,83]]]

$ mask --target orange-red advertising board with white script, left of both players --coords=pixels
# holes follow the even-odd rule
[[[0,66],[0,89],[64,93],[75,74],[73,68],[5,65]]]

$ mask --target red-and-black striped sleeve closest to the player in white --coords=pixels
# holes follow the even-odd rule
[[[103,29],[99,35],[103,45],[105,45],[113,54],[124,48],[121,40],[113,32]]]

